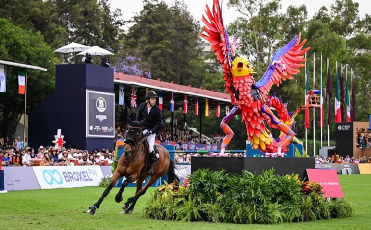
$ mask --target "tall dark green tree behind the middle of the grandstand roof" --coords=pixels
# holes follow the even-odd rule
[[[132,20],[125,48],[129,53],[134,47],[141,51],[154,79],[189,84],[194,77],[194,60],[201,58],[199,25],[184,3],[175,1],[169,7],[155,0],[143,2],[143,10]]]

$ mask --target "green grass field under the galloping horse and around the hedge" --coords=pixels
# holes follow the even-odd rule
[[[0,230],[367,230],[371,229],[371,175],[339,175],[348,200],[355,208],[355,216],[346,219],[318,220],[277,225],[237,225],[207,222],[159,221],[143,217],[151,191],[136,205],[131,215],[122,215],[121,204],[114,201],[118,188],[106,197],[94,216],[86,211],[104,188],[62,188],[52,190],[10,191],[0,194]],[[126,188],[124,201],[134,194]]]

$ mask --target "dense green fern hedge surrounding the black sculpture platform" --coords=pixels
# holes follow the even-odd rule
[[[189,187],[165,184],[148,200],[147,218],[182,221],[275,224],[352,216],[344,199],[327,201],[322,187],[274,170],[256,176],[198,170]]]

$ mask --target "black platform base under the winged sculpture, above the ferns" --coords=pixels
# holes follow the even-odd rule
[[[299,174],[299,178],[306,177],[307,168],[316,168],[314,158],[295,157],[193,157],[191,171],[200,168],[209,168],[219,171],[222,168],[230,173],[241,174],[243,170],[260,175],[263,170],[274,168],[279,175]]]

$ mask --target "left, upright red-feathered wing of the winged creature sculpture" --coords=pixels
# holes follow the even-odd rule
[[[219,64],[222,65],[224,81],[225,81],[225,91],[229,93],[232,105],[235,104],[233,96],[233,78],[230,71],[231,61],[229,48],[228,34],[225,30],[222,10],[219,5],[219,0],[214,0],[213,11],[211,12],[209,6],[206,4],[206,15],[209,21],[202,15],[202,22],[205,24],[203,26],[203,31],[205,33],[200,33],[200,35],[211,43],[211,48],[214,50],[214,54],[217,56]]]

